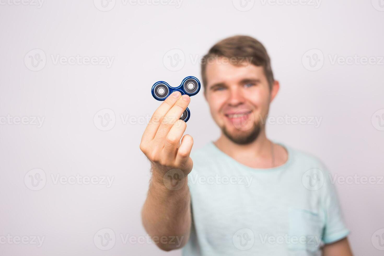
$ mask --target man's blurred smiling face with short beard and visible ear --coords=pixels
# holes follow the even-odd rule
[[[223,61],[207,64],[206,76],[205,98],[223,134],[237,144],[253,142],[264,129],[278,82],[270,89],[263,67]]]

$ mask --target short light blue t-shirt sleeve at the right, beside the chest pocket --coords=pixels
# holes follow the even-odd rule
[[[349,230],[344,222],[336,187],[331,182],[331,174],[324,165],[322,171],[324,185],[321,188],[321,197],[325,217],[322,240],[324,244],[330,244],[345,238]]]

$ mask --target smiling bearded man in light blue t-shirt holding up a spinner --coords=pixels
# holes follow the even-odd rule
[[[186,124],[178,120],[189,96],[174,92],[154,112],[140,144],[152,167],[146,231],[176,237],[157,245],[184,247],[184,255],[351,256],[324,165],[266,138],[280,85],[264,46],[234,36],[204,59],[215,60],[202,63],[202,81],[222,133],[190,156],[193,140],[183,137]]]

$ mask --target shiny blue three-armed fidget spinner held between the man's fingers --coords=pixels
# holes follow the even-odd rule
[[[159,81],[152,86],[152,96],[158,101],[164,101],[172,92],[179,91],[181,95],[194,96],[200,91],[200,81],[194,76],[187,76],[177,87],[172,87],[164,81]],[[187,122],[190,117],[189,109],[185,109],[180,119]]]

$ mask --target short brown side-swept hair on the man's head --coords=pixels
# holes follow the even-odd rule
[[[210,58],[220,57],[225,57],[231,60],[233,58],[237,59],[237,62],[235,63],[230,62],[235,65],[242,65],[248,61],[250,62],[248,64],[262,66],[264,68],[264,73],[268,80],[269,87],[272,87],[275,79],[273,78],[271,60],[263,44],[255,38],[241,35],[225,38],[212,46],[203,59],[207,60]],[[204,88],[207,86],[206,67],[207,61],[202,61],[201,76]]]

